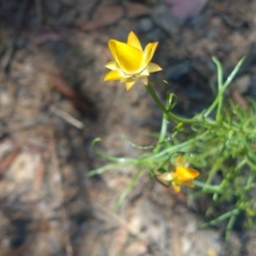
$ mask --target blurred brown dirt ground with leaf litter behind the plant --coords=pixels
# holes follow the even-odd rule
[[[95,137],[102,152],[136,157],[123,137],[148,145],[160,128],[144,86],[127,93],[102,81],[110,38],[125,41],[132,30],[143,44],[160,42],[156,78],[169,84],[155,86],[163,99],[177,94],[179,113],[211,102],[212,55],[224,73],[247,55],[229,96],[242,105],[256,97],[256,1],[204,1],[185,17],[166,2],[0,1],[1,256],[255,255],[256,229],[224,243],[223,227],[199,227],[206,202],[191,207],[146,172],[118,210],[135,170],[86,177],[105,163]]]

